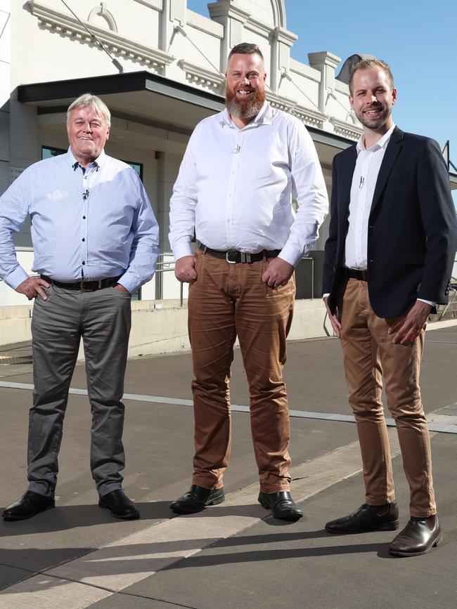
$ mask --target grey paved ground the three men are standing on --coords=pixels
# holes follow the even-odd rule
[[[457,325],[430,327],[422,367],[425,410],[432,413],[430,419],[457,431]],[[26,487],[31,367],[24,362],[1,365],[0,377],[0,504],[6,506]],[[291,410],[350,414],[337,339],[290,343],[285,377]],[[131,522],[111,518],[96,504],[89,472],[89,405],[85,395],[70,395],[57,508],[0,524],[0,608],[456,606],[456,433],[432,436],[445,537],[427,556],[390,557],[392,532],[339,537],[323,530],[326,520],[363,503],[355,426],[338,420],[291,419],[292,496],[305,513],[297,523],[275,520],[257,504],[245,412],[233,412],[226,502],[176,517],[168,504],[191,480],[190,379],[188,354],[129,360],[125,391],[137,399],[125,400],[124,490],[141,511],[141,520]],[[84,366],[77,366],[72,388],[84,391]],[[233,404],[247,405],[239,353],[231,394]],[[394,428],[390,437],[404,524],[408,493]]]

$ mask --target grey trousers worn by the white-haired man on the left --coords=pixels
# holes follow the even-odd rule
[[[51,286],[32,317],[33,406],[27,450],[29,490],[52,497],[68,390],[84,343],[91,403],[91,472],[99,495],[119,489],[124,469],[124,372],[131,296],[113,287],[82,292]]]

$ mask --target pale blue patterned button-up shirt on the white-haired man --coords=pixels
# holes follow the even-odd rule
[[[136,292],[154,274],[159,227],[129,165],[101,155],[84,171],[69,149],[34,163],[0,197],[0,275],[13,289],[28,275],[13,233],[30,214],[32,270],[61,282],[105,279]]]

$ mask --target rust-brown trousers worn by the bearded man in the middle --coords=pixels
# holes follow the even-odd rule
[[[231,264],[201,249],[188,296],[193,357],[195,457],[193,484],[219,488],[231,450],[229,379],[233,343],[240,342],[250,388],[250,420],[263,492],[289,490],[288,401],[282,371],[292,322],[295,279],[271,289],[266,258]]]

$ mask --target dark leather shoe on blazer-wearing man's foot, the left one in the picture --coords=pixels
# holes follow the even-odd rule
[[[366,531],[394,531],[399,525],[398,505],[394,501],[385,505],[363,504],[349,516],[330,520],[329,533],[363,533]]]

